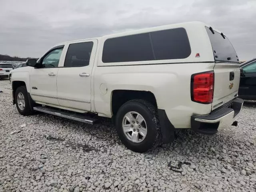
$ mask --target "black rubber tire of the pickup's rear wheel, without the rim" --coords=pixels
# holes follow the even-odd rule
[[[128,112],[137,112],[145,120],[147,134],[142,142],[136,143],[129,140],[124,134],[122,123]],[[116,131],[122,143],[134,152],[146,152],[150,148],[155,148],[162,143],[162,133],[158,120],[157,108],[145,100],[131,100],[124,103],[116,114]]]

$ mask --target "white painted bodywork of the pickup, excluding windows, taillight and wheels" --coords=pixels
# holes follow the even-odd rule
[[[112,94],[115,90],[151,92],[156,99],[157,108],[165,111],[174,128],[191,128],[193,115],[207,116],[234,100],[240,81],[238,60],[216,62],[214,47],[206,27],[210,28],[201,22],[188,22],[60,43],[54,46],[63,47],[57,67],[15,69],[12,71],[12,83],[24,82],[27,92],[37,104],[80,113],[96,113],[108,118],[115,115],[112,109],[115,102]],[[186,58],[108,63],[102,61],[106,40],[176,28],[186,30],[191,49]],[[214,31],[215,35],[221,33]],[[93,42],[89,64],[79,67],[64,66],[70,45],[83,42]],[[43,58],[44,56],[41,59]],[[214,72],[213,101],[208,104],[194,102],[191,98],[192,74],[208,71]],[[230,72],[234,72],[234,80],[230,80]],[[233,116],[234,112],[230,112],[217,122],[220,126],[230,126],[234,121]],[[196,119],[198,122],[207,122]],[[216,123],[211,120],[208,122]]]

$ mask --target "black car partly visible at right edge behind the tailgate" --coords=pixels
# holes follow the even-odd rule
[[[238,97],[256,100],[256,58],[242,63],[240,72]]]

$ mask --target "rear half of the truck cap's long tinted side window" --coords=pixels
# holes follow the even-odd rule
[[[188,35],[184,28],[150,32],[156,60],[187,58],[190,53]]]

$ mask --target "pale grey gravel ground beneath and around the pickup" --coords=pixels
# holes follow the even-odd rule
[[[178,130],[173,143],[139,154],[120,143],[109,120],[24,117],[10,82],[0,88],[0,192],[256,191],[256,102],[244,104],[237,127],[214,136]],[[170,170],[178,162],[191,165]]]

